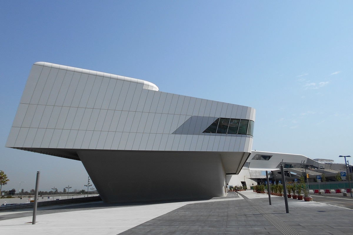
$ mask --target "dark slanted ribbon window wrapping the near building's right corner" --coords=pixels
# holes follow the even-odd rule
[[[253,135],[254,121],[236,118],[217,118],[202,133]]]

